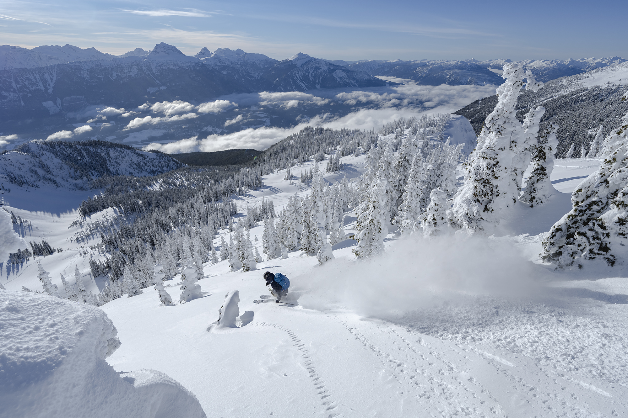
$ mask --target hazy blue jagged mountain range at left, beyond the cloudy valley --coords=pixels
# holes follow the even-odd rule
[[[123,56],[72,45],[0,46],[0,112],[6,119],[25,112],[43,117],[50,104],[68,112],[105,103],[128,107],[148,100],[200,102],[232,93],[386,85],[391,83],[303,53],[277,61],[227,48],[188,56],[163,42]]]

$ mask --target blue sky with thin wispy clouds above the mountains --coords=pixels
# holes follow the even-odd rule
[[[628,58],[627,1],[30,1],[0,3],[0,44],[121,54],[164,41],[284,59]]]

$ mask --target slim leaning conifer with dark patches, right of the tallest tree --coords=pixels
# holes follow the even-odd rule
[[[530,204],[530,207],[541,205],[550,195],[556,193],[549,176],[554,169],[554,153],[558,146],[556,139],[558,126],[547,127],[539,136],[538,144],[532,148],[532,172],[526,183],[526,190],[521,195],[521,201]]]

